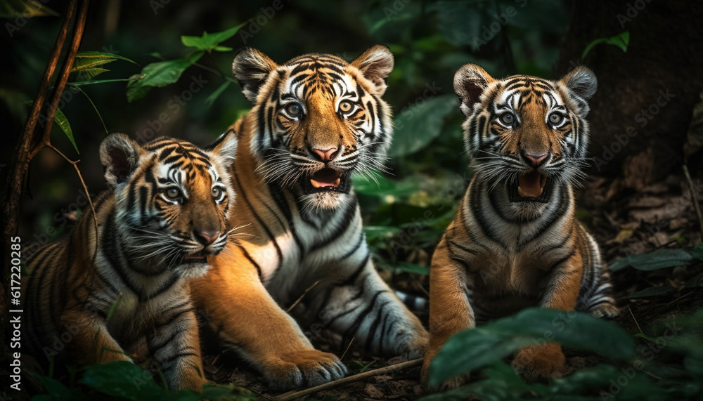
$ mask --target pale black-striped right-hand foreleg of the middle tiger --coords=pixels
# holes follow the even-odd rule
[[[342,341],[363,346],[380,355],[404,355],[414,359],[425,355],[429,335],[383,282],[370,258],[349,280],[330,284],[323,290],[318,318],[328,329],[342,335]]]

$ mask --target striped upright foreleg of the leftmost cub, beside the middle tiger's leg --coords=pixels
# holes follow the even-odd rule
[[[205,383],[200,358],[198,320],[190,303],[169,310],[153,332],[147,334],[151,356],[160,366],[170,388],[190,388],[200,393]]]

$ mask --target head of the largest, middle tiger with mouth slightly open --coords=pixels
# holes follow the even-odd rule
[[[391,114],[381,96],[393,55],[374,46],[347,63],[307,54],[276,65],[245,48],[233,62],[254,103],[251,152],[268,183],[297,188],[313,208],[333,209],[350,190],[353,172],[382,169]]]

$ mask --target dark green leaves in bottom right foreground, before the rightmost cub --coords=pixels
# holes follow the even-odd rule
[[[564,322],[564,316],[525,310],[453,336],[432,363],[430,380],[439,383],[484,369],[468,386],[422,400],[463,400],[469,394],[482,400],[692,400],[703,395],[703,310],[657,322],[648,330],[651,336],[636,336],[634,347],[633,338],[614,324],[581,314],[554,324]],[[520,345],[543,340],[546,330],[554,341],[591,348],[609,362],[548,383],[525,383],[503,357]]]

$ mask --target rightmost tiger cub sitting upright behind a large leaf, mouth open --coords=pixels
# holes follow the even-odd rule
[[[477,322],[529,306],[617,315],[610,274],[576,220],[572,188],[583,176],[586,101],[596,86],[585,67],[559,81],[494,79],[472,64],[456,72],[475,173],[432,257],[425,381],[447,339]],[[535,379],[559,375],[564,362],[560,346],[545,343],[519,350],[513,367]]]

